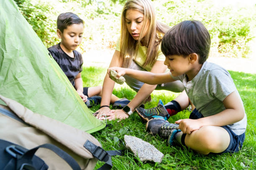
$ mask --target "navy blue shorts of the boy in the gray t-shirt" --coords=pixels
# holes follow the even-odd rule
[[[189,119],[200,119],[202,117],[204,116],[197,109],[194,109],[189,115]],[[236,133],[234,133],[228,126],[221,126],[221,127],[227,130],[230,136],[230,143],[228,145],[228,148],[224,150],[222,153],[238,152],[243,146],[245,133],[243,133],[242,135],[236,135]],[[217,153],[217,154],[222,154],[222,153]]]

